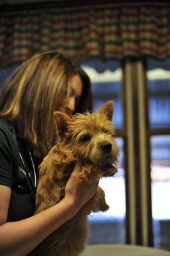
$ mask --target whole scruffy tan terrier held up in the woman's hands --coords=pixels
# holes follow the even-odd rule
[[[81,177],[109,177],[116,173],[118,146],[114,141],[112,102],[106,102],[97,113],[68,116],[56,111],[58,144],[43,159],[36,191],[36,212],[58,204],[65,196],[65,185],[73,166],[82,164]],[[88,236],[87,216],[91,212],[107,211],[104,191],[97,193],[70,220],[47,237],[32,255],[77,256],[84,249]]]

